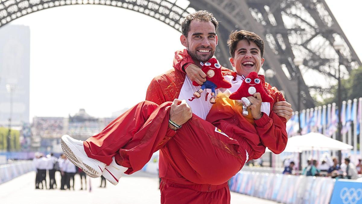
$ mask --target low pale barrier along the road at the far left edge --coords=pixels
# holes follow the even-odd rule
[[[34,170],[32,161],[0,165],[0,184]]]

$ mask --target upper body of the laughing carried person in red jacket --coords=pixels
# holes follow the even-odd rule
[[[232,32],[228,39],[230,48],[230,63],[236,72],[224,70],[224,77],[231,82],[232,87],[223,91],[223,94],[230,95],[235,92],[243,83],[245,76],[251,72],[259,72],[264,64],[264,41],[260,36],[246,30],[236,30]],[[203,72],[196,66],[194,57],[189,54],[189,49],[178,51],[175,54],[174,66],[180,71],[186,72],[191,80],[205,81]],[[276,87],[271,87],[265,82],[264,76],[259,76],[262,79],[262,85],[267,93],[273,98],[273,102],[267,103],[261,101],[260,93],[255,93],[248,97],[252,103],[248,107],[249,115],[244,117],[242,106],[239,106],[235,101],[231,101],[228,97],[221,95],[219,103],[210,109],[206,121],[220,128],[221,131],[234,139],[243,137],[251,144],[254,150],[254,157],[257,158],[257,152],[263,152],[259,142],[265,147],[268,147],[275,154],[281,153],[287,142],[286,122],[291,116],[291,106],[285,101],[283,94]],[[226,103],[224,103],[226,101]],[[238,121],[235,121],[235,118]],[[249,123],[244,123],[248,121]],[[233,125],[232,125],[233,124]],[[258,135],[258,139],[248,135],[248,132],[253,132]],[[260,140],[259,140],[260,139]],[[241,143],[241,142],[239,142]],[[264,153],[264,152],[263,152]]]

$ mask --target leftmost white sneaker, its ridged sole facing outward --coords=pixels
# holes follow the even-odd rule
[[[84,151],[83,141],[63,135],[61,146],[70,162],[81,168],[89,177],[97,178],[102,175],[106,164],[89,158]]]

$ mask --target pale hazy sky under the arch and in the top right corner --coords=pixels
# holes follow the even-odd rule
[[[326,0],[362,59],[362,1]],[[12,21],[30,26],[30,120],[95,117],[144,100],[151,79],[172,68],[177,30],[146,15],[103,5],[45,9]]]

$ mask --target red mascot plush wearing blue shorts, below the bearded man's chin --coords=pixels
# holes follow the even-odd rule
[[[201,70],[206,74],[206,81],[203,82],[201,88],[194,93],[195,98],[200,98],[201,93],[204,89],[211,89],[211,98],[210,103],[216,103],[215,98],[215,89],[219,88],[230,88],[231,83],[226,81],[221,73],[221,65],[218,64],[218,61],[215,58],[211,58],[205,64],[200,62],[202,65]],[[193,81],[194,86],[200,86],[197,82]]]

